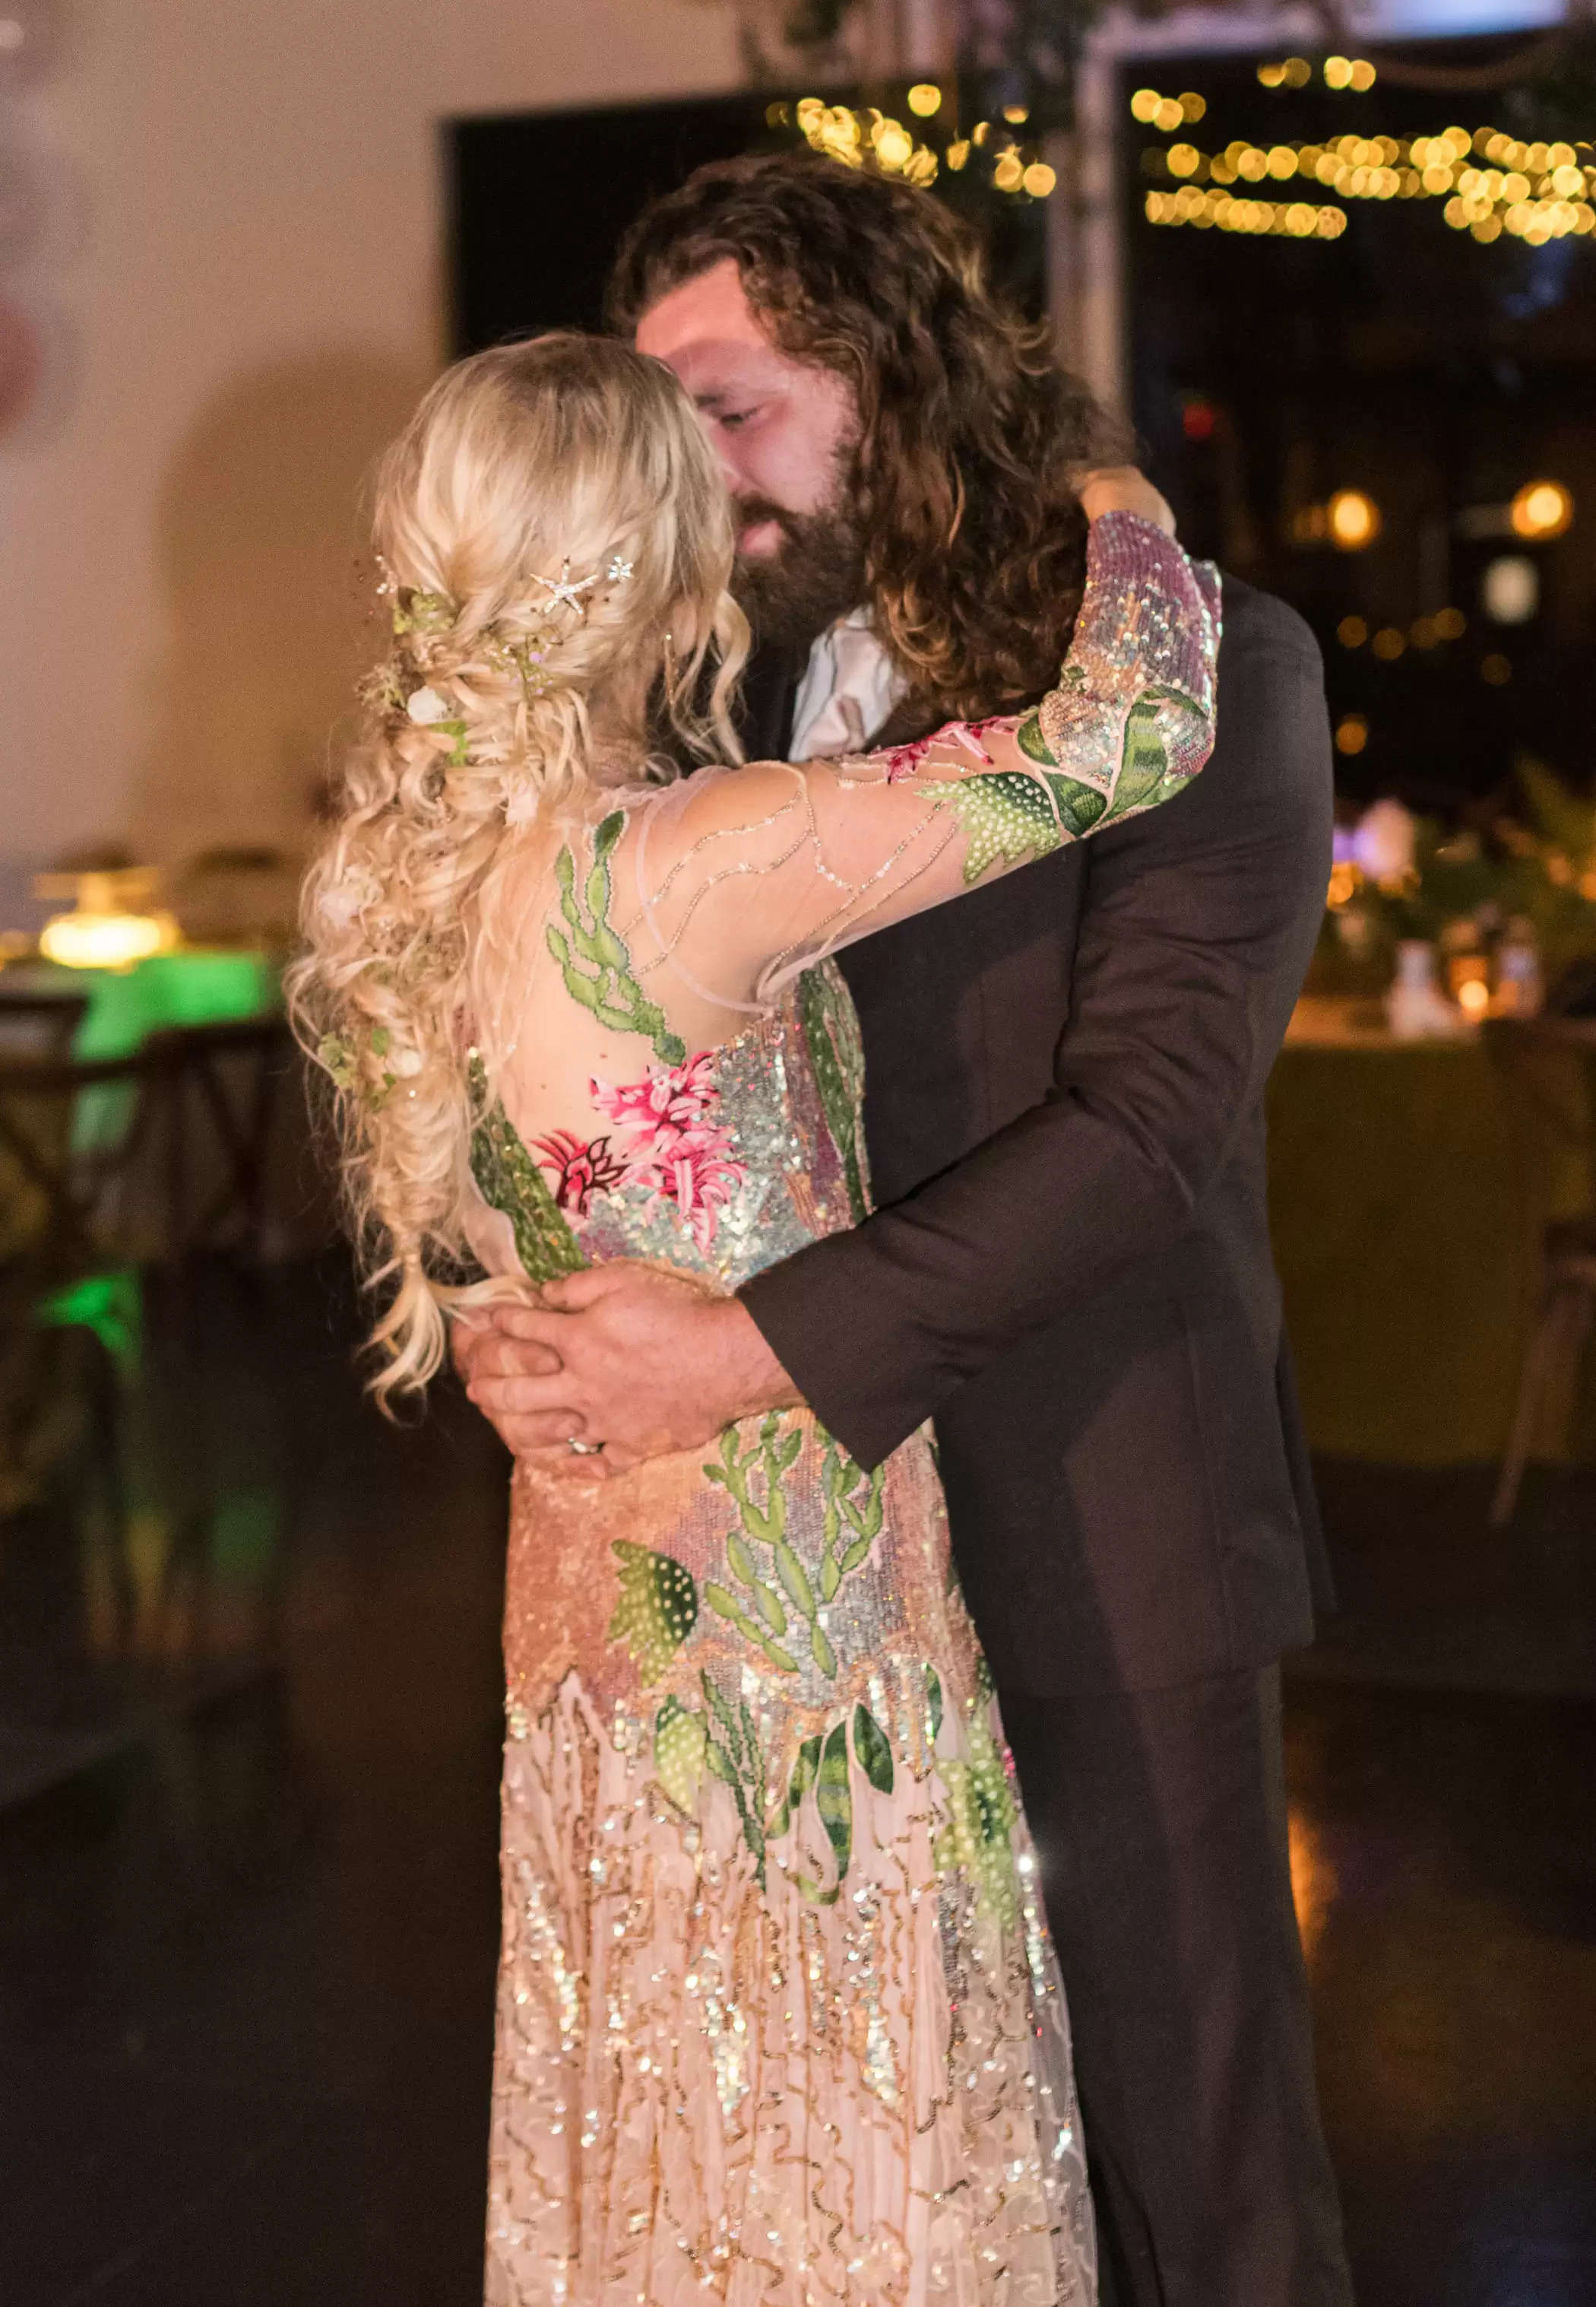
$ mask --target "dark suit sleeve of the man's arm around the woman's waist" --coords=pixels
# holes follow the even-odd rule
[[[1206,773],[1091,851],[1049,1096],[740,1292],[860,1465],[1174,1246],[1262,1096],[1324,916],[1331,741],[1312,634],[1257,611],[1220,655]]]

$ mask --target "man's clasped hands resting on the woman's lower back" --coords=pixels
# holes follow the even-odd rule
[[[680,1273],[616,1260],[544,1283],[540,1299],[457,1324],[454,1361],[500,1440],[547,1472],[625,1472],[800,1398],[752,1315]]]

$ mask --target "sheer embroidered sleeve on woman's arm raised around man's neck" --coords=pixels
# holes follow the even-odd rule
[[[763,1006],[837,946],[1158,807],[1213,747],[1218,637],[1218,572],[1105,514],[1059,687],[1031,713],[699,771],[648,803],[634,856],[657,957],[713,1001]]]

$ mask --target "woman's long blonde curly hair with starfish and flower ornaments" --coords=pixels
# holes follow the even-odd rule
[[[394,639],[304,881],[288,1004],[337,1089],[351,1220],[387,1292],[387,1407],[436,1373],[445,1306],[473,1294],[470,1133],[498,1073],[482,964],[507,867],[535,821],[667,777],[662,741],[740,759],[747,625],[694,408],[607,337],[447,369],[383,457],[374,535]]]

